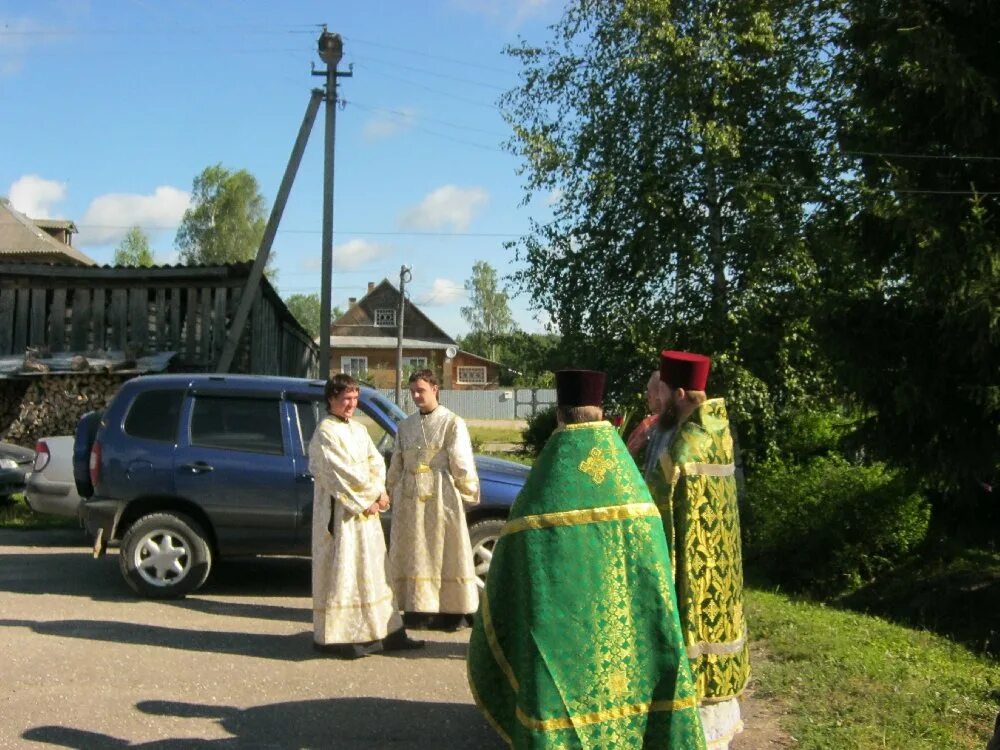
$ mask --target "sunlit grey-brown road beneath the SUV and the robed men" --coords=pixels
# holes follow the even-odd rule
[[[340,662],[311,616],[308,560],[223,564],[156,602],[79,531],[0,530],[0,747],[505,747],[469,695],[468,631]],[[734,750],[787,747],[755,732]]]

